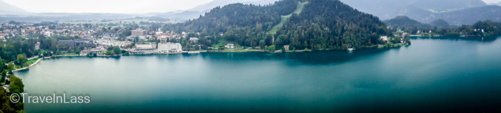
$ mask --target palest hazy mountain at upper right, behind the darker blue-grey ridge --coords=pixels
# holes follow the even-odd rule
[[[342,0],[346,4],[385,20],[420,12],[447,12],[487,5],[482,0]],[[417,11],[417,12],[414,12]]]

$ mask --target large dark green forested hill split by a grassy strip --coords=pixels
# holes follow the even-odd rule
[[[300,14],[293,13],[300,2],[308,3]],[[281,16],[291,13],[276,34],[268,33],[281,23]],[[261,48],[291,45],[291,49],[298,50],[345,50],[348,45],[366,48],[378,44],[379,36],[390,34],[378,17],[339,0],[280,0],[264,6],[229,4],[194,20],[167,24],[163,30],[200,32],[199,42],[207,46],[222,40]]]

